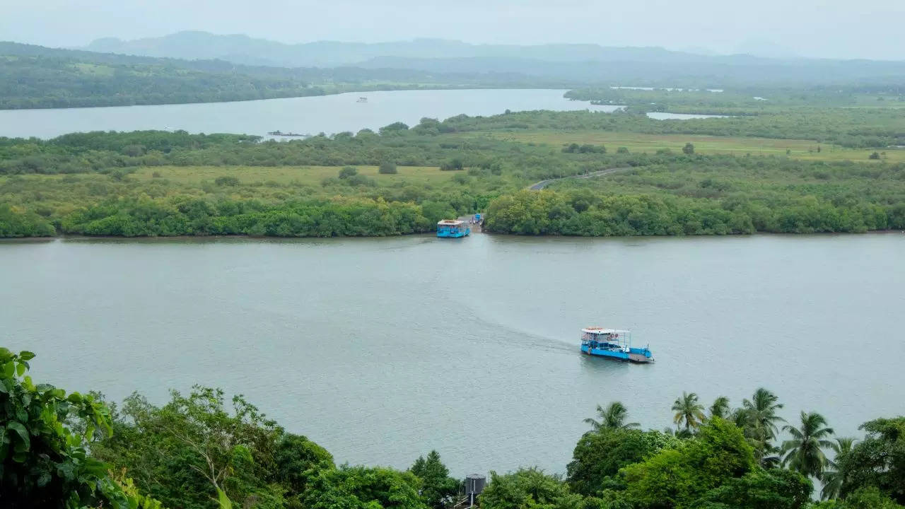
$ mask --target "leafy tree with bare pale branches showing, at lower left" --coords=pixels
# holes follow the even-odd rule
[[[237,504],[281,507],[283,492],[293,495],[291,482],[275,484],[284,480],[274,474],[282,430],[241,396],[231,407],[222,390],[198,386],[187,396],[172,391],[159,408],[133,395],[116,434],[92,452],[170,507],[213,507],[221,491]]]

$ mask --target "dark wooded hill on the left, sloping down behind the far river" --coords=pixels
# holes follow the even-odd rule
[[[0,42],[0,109],[249,101],[411,88],[558,88],[576,84],[505,72],[268,67]]]

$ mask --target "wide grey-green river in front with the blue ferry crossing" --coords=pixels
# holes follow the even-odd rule
[[[338,462],[563,472],[614,400],[653,428],[759,386],[843,435],[901,415],[903,259],[900,233],[4,242],[0,327],[36,379],[241,392]],[[581,355],[588,325],[656,363]]]

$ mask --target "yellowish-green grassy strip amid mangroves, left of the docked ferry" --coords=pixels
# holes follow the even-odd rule
[[[132,178],[150,180],[166,178],[178,184],[197,184],[205,181],[213,182],[218,177],[238,178],[243,186],[254,185],[301,185],[320,186],[324,178],[336,177],[341,167],[303,166],[303,167],[253,167],[253,166],[164,166],[138,168]],[[358,175],[375,178],[378,186],[394,187],[403,184],[424,186],[442,184],[452,178],[454,172],[440,171],[436,167],[397,168],[395,175],[380,175],[376,166],[357,166]]]

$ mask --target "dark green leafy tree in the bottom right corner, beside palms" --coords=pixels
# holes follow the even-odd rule
[[[866,437],[837,459],[843,477],[840,495],[875,487],[905,505],[905,418],[879,418],[861,426]]]

